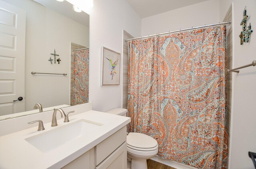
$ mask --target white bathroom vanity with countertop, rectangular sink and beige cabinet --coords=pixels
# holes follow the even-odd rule
[[[55,127],[46,121],[53,110],[0,121],[0,128],[22,128],[0,132],[0,169],[126,169],[130,118],[91,110],[92,103],[63,109],[78,114]],[[36,119],[44,120],[45,130],[27,124]]]

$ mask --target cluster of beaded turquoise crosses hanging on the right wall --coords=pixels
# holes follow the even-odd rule
[[[246,20],[247,20],[248,16],[246,15],[246,9],[244,8],[244,11],[243,11],[243,19],[240,23],[240,25],[242,25],[242,31],[239,35],[240,37],[240,44],[242,45],[244,42],[245,43],[248,43],[249,42],[249,37],[250,37],[250,34],[252,33],[252,30],[251,30],[251,23],[249,24],[249,26],[247,27],[247,30],[246,30]]]

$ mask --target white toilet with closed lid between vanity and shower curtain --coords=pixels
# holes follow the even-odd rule
[[[127,115],[127,109],[115,108],[106,113],[120,116]],[[127,155],[131,158],[131,169],[147,169],[147,159],[150,159],[158,153],[157,141],[142,133],[130,132],[127,136]]]

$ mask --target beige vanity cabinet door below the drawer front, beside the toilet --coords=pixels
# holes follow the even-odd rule
[[[127,142],[122,143],[95,169],[127,169]]]

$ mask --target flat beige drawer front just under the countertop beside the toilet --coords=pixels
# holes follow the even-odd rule
[[[95,165],[98,165],[126,141],[126,126],[95,146]]]

